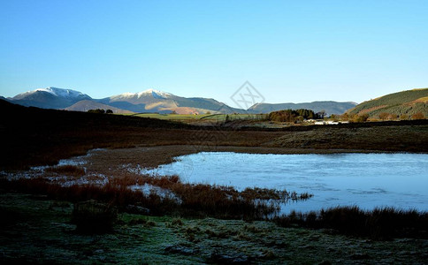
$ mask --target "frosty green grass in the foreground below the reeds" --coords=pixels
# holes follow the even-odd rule
[[[51,264],[424,264],[427,241],[371,241],[275,223],[119,214],[110,233],[85,235],[73,204],[0,193],[0,261]]]

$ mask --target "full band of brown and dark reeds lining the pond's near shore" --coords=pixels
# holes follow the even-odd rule
[[[173,195],[131,190],[129,186],[135,183],[157,186]],[[357,207],[339,207],[279,216],[279,202],[308,200],[311,195],[307,193],[260,188],[247,188],[238,192],[226,186],[182,184],[177,177],[118,178],[105,186],[60,186],[50,184],[43,178],[2,179],[0,185],[6,191],[45,195],[50,200],[74,203],[95,200],[118,208],[123,213],[147,208],[147,213],[152,216],[265,220],[283,227],[330,229],[343,235],[369,239],[428,239],[428,213],[416,210],[377,208],[364,211]],[[109,220],[104,218],[97,222],[97,226],[103,226]]]

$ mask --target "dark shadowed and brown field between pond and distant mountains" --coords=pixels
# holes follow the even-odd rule
[[[428,120],[234,129],[230,125],[199,127],[144,117],[24,108],[4,101],[0,101],[0,111],[0,169],[10,170],[54,164],[93,148],[190,145],[255,153],[293,153],[288,149],[308,153],[334,149],[428,152]],[[270,150],[262,151],[264,148]]]

